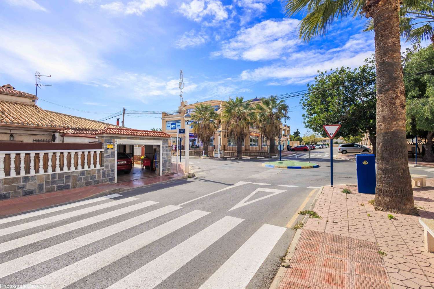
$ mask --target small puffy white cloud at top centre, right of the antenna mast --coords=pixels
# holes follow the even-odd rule
[[[188,19],[201,22],[202,19],[212,19],[211,22],[204,22],[205,25],[214,25],[228,18],[227,9],[231,6],[224,6],[218,0],[193,0],[190,3],[182,3],[179,11]]]

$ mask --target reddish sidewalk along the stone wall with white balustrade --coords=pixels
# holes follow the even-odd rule
[[[122,192],[132,188],[140,188],[155,183],[185,179],[188,177],[188,175],[184,173],[184,164],[178,164],[178,173],[176,173],[176,164],[172,163],[171,170],[172,172],[166,175],[156,175],[144,179],[118,182],[117,184],[90,185],[82,188],[72,188],[57,192],[2,200],[0,201],[0,216],[3,217],[10,214],[23,213],[97,195],[107,195],[109,193]]]

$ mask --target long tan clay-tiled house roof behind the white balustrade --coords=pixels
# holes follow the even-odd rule
[[[43,110],[34,104],[25,104],[14,101],[0,101],[0,124],[22,124],[38,127],[63,127],[72,129],[73,132],[90,134],[95,130],[105,127],[117,127],[110,123],[89,120],[84,117],[76,117],[69,114]],[[79,132],[76,132],[79,130]]]

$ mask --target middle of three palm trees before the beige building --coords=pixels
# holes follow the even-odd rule
[[[224,104],[222,122],[226,124],[226,135],[237,143],[237,157],[243,156],[242,141],[249,135],[249,128],[256,122],[256,113],[250,101],[243,97],[229,98]]]

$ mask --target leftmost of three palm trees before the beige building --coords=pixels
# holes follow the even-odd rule
[[[217,120],[219,118],[220,116],[214,111],[214,108],[207,104],[196,105],[194,113],[191,114],[193,132],[204,143],[204,151],[207,156],[210,138],[217,131]]]

